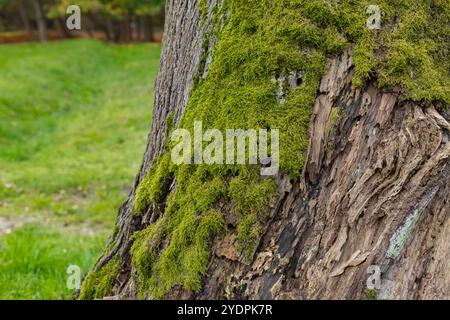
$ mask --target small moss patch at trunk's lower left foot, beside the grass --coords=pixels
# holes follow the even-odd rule
[[[106,297],[111,293],[119,271],[120,259],[116,256],[99,270],[89,272],[83,281],[78,298],[92,300]]]

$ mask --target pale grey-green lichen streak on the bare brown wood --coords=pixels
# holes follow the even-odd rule
[[[400,254],[403,252],[403,249],[405,248],[407,241],[411,237],[411,234],[415,229],[417,222],[420,220],[420,217],[422,216],[426,207],[430,204],[438,191],[439,187],[434,187],[432,191],[420,201],[416,210],[414,210],[414,212],[406,218],[403,225],[394,232],[389,241],[389,248],[386,252],[387,258],[395,259],[400,256]]]

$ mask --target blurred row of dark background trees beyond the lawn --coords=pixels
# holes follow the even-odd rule
[[[67,8],[81,9],[81,31],[68,30]],[[0,43],[92,37],[160,42],[164,0],[0,0]]]

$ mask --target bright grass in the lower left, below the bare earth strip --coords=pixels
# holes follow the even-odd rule
[[[42,225],[0,238],[1,299],[69,299],[67,268],[86,272],[103,245],[102,236],[62,233]]]

